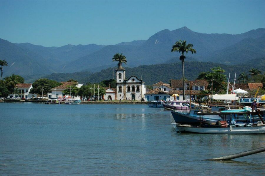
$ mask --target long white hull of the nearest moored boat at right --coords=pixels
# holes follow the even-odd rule
[[[200,127],[193,125],[176,124],[181,133],[207,133],[207,134],[265,134],[265,124],[243,127]]]

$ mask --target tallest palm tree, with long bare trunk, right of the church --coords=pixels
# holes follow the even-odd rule
[[[192,48],[193,44],[188,44],[186,45],[186,41],[185,40],[179,40],[175,43],[175,45],[172,46],[171,52],[176,51],[181,53],[179,59],[182,62],[182,77],[183,77],[183,100],[185,100],[185,79],[184,79],[184,59],[186,58],[186,56],[184,55],[184,52],[188,53],[188,51],[191,51],[191,54],[196,53],[196,50]],[[190,97],[191,98],[191,97]]]

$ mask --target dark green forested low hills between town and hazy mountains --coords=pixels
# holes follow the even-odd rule
[[[212,62],[185,62],[185,78],[194,80],[198,77],[200,72],[210,71],[210,68],[221,66],[226,72],[234,75],[237,73],[237,76],[242,73],[248,73],[251,68],[257,68],[264,73],[265,68],[265,58],[258,58],[250,61],[248,64],[238,64],[233,66],[228,66],[224,64],[212,63]],[[147,84],[153,84],[158,81],[163,81],[168,83],[170,79],[181,79],[182,78],[182,66],[181,62],[177,61],[175,63],[164,63],[164,64],[155,64],[155,65],[143,65],[134,68],[126,68],[126,77],[134,75],[138,78],[142,77],[143,81]],[[82,83],[99,83],[102,80],[115,79],[115,68],[107,68],[100,72],[90,73],[90,72],[77,72],[71,74],[52,74],[45,76],[45,78],[54,79],[56,81],[65,81],[70,78],[76,79]]]

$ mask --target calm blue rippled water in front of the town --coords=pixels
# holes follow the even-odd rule
[[[265,153],[202,160],[265,146],[265,135],[176,133],[160,110],[0,103],[0,174],[264,175]]]

